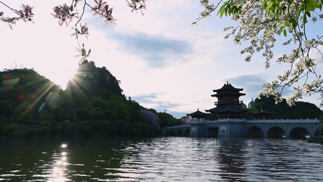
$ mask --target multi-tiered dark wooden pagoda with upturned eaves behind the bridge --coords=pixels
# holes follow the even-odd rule
[[[218,98],[218,101],[214,102],[216,107],[205,111],[211,112],[213,117],[218,116],[219,119],[245,118],[245,114],[247,114],[249,109],[241,106],[243,103],[239,101],[239,97],[246,94],[240,93],[240,91],[243,91],[243,88],[234,88],[226,82],[222,88],[213,90],[216,94],[211,96]]]

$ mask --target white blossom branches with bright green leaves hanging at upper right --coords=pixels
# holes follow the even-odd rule
[[[275,13],[269,10],[270,6],[273,6],[272,1],[265,0],[230,0],[225,3],[230,4],[230,7],[241,8],[241,13],[234,13],[232,19],[238,23],[237,27],[224,28],[224,31],[231,30],[224,38],[228,39],[233,37],[234,44],[241,45],[242,41],[249,41],[250,46],[243,49],[240,53],[247,54],[245,61],[250,62],[251,57],[254,53],[263,51],[262,55],[266,59],[266,68],[270,66],[269,61],[274,58],[271,48],[274,47],[276,42],[276,36],[280,35],[282,32],[287,36],[287,32],[291,35],[291,38],[284,42],[283,45],[290,45],[291,42],[294,43],[296,49],[293,49],[290,55],[283,55],[279,57],[276,63],[286,63],[289,64],[290,69],[285,71],[283,75],[278,75],[277,79],[271,83],[265,83],[262,85],[264,90],[259,94],[259,97],[270,95],[274,96],[276,99],[276,104],[283,100],[281,92],[278,91],[279,87],[292,86],[294,83],[298,82],[299,79],[305,77],[308,74],[314,74],[316,76],[315,81],[308,83],[307,79],[305,83],[300,88],[295,88],[295,93],[287,98],[288,105],[295,105],[297,99],[302,99],[303,95],[317,92],[320,85],[323,83],[320,75],[315,72],[317,64],[315,60],[309,57],[309,51],[311,48],[317,49],[318,45],[323,45],[320,40],[323,36],[315,38],[309,38],[306,35],[305,24],[303,22],[302,16],[297,17],[298,11],[304,6],[304,1],[302,0],[292,0],[279,2],[276,1],[278,8]],[[192,25],[197,25],[197,22],[205,17],[211,16],[210,14],[219,6],[211,3],[209,0],[201,0],[200,4],[205,8],[200,14],[200,18],[193,22]],[[220,5],[221,6],[221,5]],[[304,9],[304,7],[303,7]],[[232,9],[230,9],[233,11]],[[276,13],[277,12],[277,13]],[[228,13],[228,12],[225,12]],[[313,13],[312,16],[314,16]],[[222,15],[220,15],[222,16]],[[225,14],[227,16],[227,14]],[[319,19],[323,19],[323,15],[318,15]],[[302,17],[302,18],[301,18]],[[298,19],[297,19],[298,18]],[[317,17],[311,17],[312,22],[317,21]],[[297,23],[295,23],[297,21]],[[287,26],[287,24],[291,24]],[[296,28],[290,28],[295,25]],[[317,49],[318,50],[318,49]],[[319,50],[318,50],[319,51]],[[323,56],[322,56],[323,57]]]

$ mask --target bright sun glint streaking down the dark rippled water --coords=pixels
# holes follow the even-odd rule
[[[70,181],[66,178],[67,171],[67,144],[62,144],[60,155],[53,165],[52,174],[47,182],[65,182]]]

